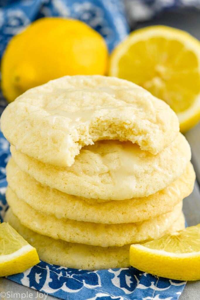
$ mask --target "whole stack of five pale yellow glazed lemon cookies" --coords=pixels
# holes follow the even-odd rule
[[[6,221],[40,259],[129,266],[130,244],[184,228],[195,180],[170,107],[126,80],[65,76],[9,104]]]

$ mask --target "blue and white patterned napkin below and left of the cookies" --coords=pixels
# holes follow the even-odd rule
[[[5,101],[0,98],[0,114],[4,106]],[[5,166],[9,157],[9,143],[0,131],[1,222],[8,208]],[[177,300],[186,284],[135,268],[86,271],[50,265],[44,261],[23,273],[8,276],[8,279],[65,300]]]

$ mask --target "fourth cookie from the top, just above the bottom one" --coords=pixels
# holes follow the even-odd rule
[[[13,213],[29,229],[52,238],[101,247],[123,246],[148,239],[157,239],[178,218],[182,202],[172,212],[137,223],[98,224],[70,219],[58,219],[31,208],[8,186],[6,199]]]

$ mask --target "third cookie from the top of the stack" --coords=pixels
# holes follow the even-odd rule
[[[134,223],[172,211],[173,207],[193,190],[195,173],[191,163],[184,173],[168,187],[148,197],[121,201],[88,199],[62,193],[42,186],[19,169],[13,159],[7,164],[7,182],[19,199],[43,213],[58,219],[94,223]],[[58,205],[59,203],[59,205]]]

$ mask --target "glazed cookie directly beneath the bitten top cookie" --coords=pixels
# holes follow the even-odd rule
[[[118,140],[85,146],[71,167],[44,164],[10,147],[21,170],[43,185],[85,198],[124,200],[156,193],[180,177],[190,161],[190,146],[178,137],[153,155]]]

